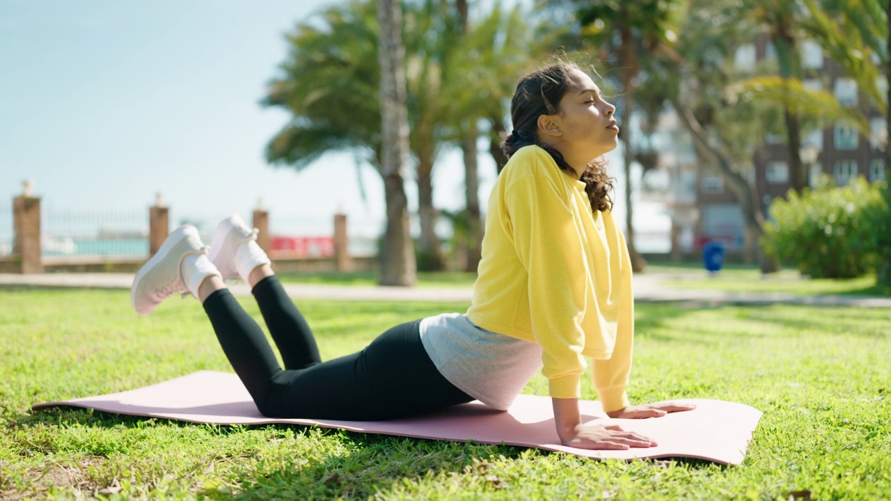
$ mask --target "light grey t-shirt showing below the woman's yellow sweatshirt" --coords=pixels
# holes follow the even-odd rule
[[[448,382],[505,410],[542,366],[542,347],[493,333],[460,313],[421,320],[421,343]]]

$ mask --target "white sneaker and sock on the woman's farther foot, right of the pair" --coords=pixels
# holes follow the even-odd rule
[[[245,282],[254,268],[272,264],[257,245],[257,228],[249,228],[237,214],[217,225],[208,258],[224,280],[241,277]]]

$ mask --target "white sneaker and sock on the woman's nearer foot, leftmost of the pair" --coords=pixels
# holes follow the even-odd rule
[[[176,228],[151,259],[139,269],[130,288],[136,313],[146,316],[175,292],[191,292],[210,275],[220,275],[207,258],[195,226]]]

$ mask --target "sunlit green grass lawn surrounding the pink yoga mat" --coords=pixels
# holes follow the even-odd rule
[[[879,499],[891,491],[887,309],[637,307],[635,402],[764,411],[744,464],[594,461],[323,431],[208,426],[31,403],[230,370],[194,300],[147,318],[127,292],[0,290],[0,498]],[[259,318],[256,305],[241,300]],[[303,301],[323,357],[464,304]],[[539,375],[527,392],[546,394]],[[594,398],[585,380],[584,398]]]

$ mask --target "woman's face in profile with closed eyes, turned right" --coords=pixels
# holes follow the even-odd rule
[[[618,144],[616,107],[601,96],[601,89],[581,70],[570,70],[570,85],[553,117],[560,127],[555,146],[569,147],[590,159],[612,151]],[[562,143],[562,144],[560,144]]]

